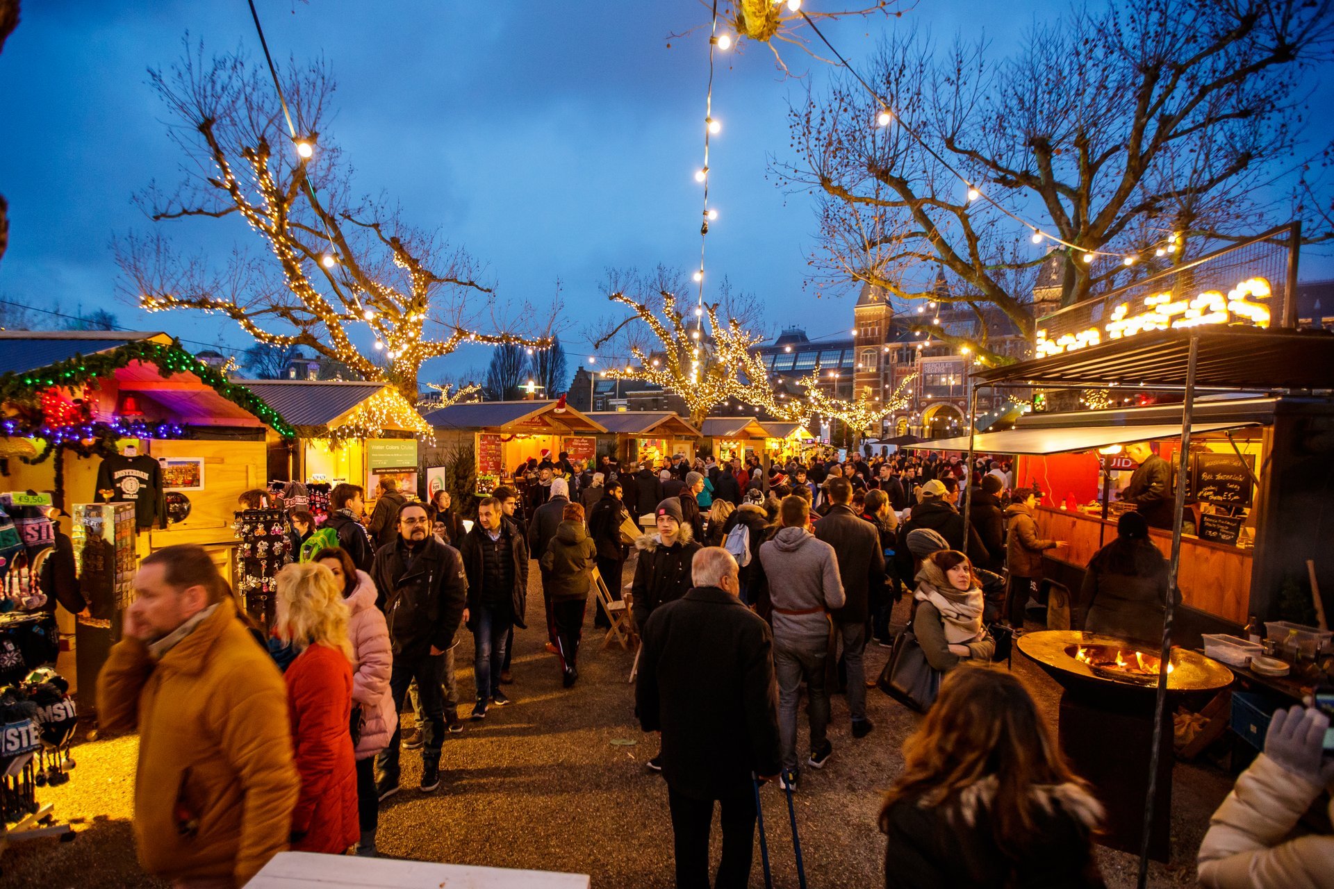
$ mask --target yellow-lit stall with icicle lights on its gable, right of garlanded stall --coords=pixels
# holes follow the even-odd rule
[[[269,481],[304,485],[316,522],[328,514],[328,493],[348,482],[366,489],[367,512],[382,477],[399,490],[418,490],[418,439],[430,437],[422,415],[390,383],[363,380],[245,380],[244,384],[292,424],[296,435],[269,460]]]

